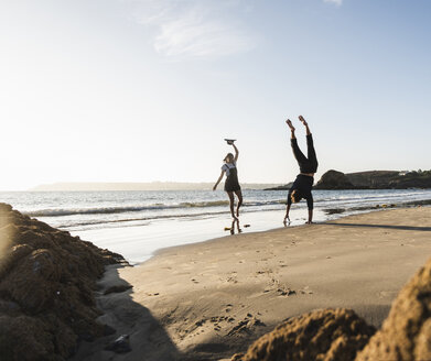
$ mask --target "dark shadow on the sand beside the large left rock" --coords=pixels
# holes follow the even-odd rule
[[[96,339],[93,342],[80,342],[74,361],[106,361],[106,360],[184,360],[184,355],[172,342],[161,324],[150,310],[133,302],[133,289],[120,278],[119,265],[108,266],[103,278],[98,282],[96,294],[97,306],[101,310],[98,322],[108,325],[116,330],[111,336]],[[126,289],[126,291],[125,291]],[[116,353],[105,348],[121,335],[129,335],[131,351]]]

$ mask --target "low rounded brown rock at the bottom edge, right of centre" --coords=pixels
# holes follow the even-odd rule
[[[231,360],[354,360],[375,331],[353,310],[315,310],[289,319]]]

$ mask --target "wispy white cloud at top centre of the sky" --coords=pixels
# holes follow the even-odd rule
[[[240,1],[138,0],[133,7],[137,21],[153,30],[154,50],[171,59],[223,57],[256,46],[231,17],[247,11]]]

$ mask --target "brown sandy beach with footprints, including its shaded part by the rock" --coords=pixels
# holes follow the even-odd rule
[[[229,236],[160,251],[100,282],[100,321],[117,329],[74,360],[220,360],[282,320],[345,307],[379,327],[401,286],[431,254],[431,208]],[[103,295],[112,285],[122,293]],[[132,351],[104,351],[121,333]]]

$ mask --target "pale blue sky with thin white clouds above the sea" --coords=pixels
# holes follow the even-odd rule
[[[0,190],[429,169],[429,0],[2,0]]]

